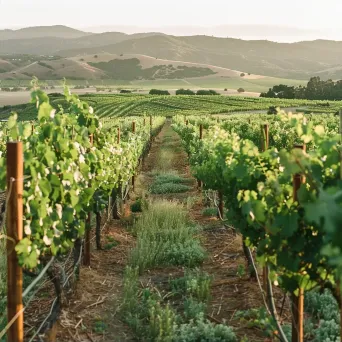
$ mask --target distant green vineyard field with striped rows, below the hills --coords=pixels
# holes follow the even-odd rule
[[[208,115],[229,114],[234,112],[266,112],[269,107],[290,108],[308,113],[336,113],[342,107],[340,101],[310,101],[268,99],[236,96],[154,96],[136,94],[93,94],[82,95],[100,118],[141,116],[141,115]],[[63,96],[51,97],[51,104],[57,108],[65,106]],[[21,120],[32,120],[37,116],[33,104],[4,106],[0,108],[0,119],[6,119],[12,111],[18,113]]]

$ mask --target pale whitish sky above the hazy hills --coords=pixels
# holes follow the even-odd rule
[[[342,40],[341,15],[341,0],[0,0],[0,28],[59,24],[94,32],[154,30],[280,41]],[[216,27],[221,25],[276,25],[278,29],[269,32],[272,28],[264,26],[246,31],[245,27],[239,33],[236,27]],[[301,30],[282,31],[284,26]]]

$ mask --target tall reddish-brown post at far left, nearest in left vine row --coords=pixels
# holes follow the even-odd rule
[[[7,341],[24,341],[22,301],[23,271],[18,264],[16,244],[23,238],[23,144],[7,143],[7,318],[14,323],[7,332]]]

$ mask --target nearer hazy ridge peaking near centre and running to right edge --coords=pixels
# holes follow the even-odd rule
[[[97,48],[59,51],[71,57],[91,53],[142,54],[155,58],[205,63],[267,76],[305,79],[341,78],[342,42],[275,43],[207,36],[166,35],[130,39]],[[333,70],[329,70],[335,68]],[[327,70],[328,69],[328,70]]]

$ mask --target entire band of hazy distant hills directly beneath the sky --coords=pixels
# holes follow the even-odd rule
[[[342,42],[329,40],[289,44],[155,32],[90,34],[65,26],[52,26],[0,31],[0,59],[5,54],[61,56],[75,58],[74,61],[95,54],[139,55],[271,77],[342,78]],[[0,65],[2,73],[9,69],[8,65]],[[3,78],[1,73],[0,78]]]

